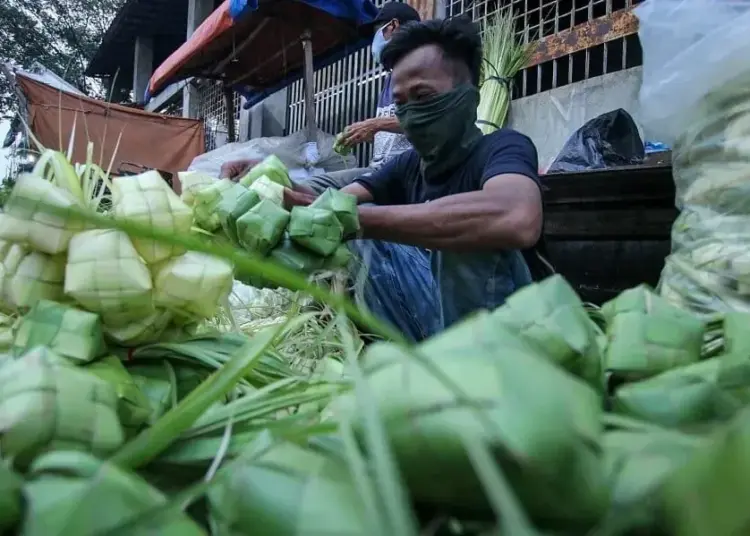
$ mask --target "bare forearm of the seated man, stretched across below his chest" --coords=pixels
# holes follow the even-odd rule
[[[481,192],[451,195],[431,203],[360,207],[365,238],[430,249],[493,251],[526,248],[536,236],[516,211],[499,211]]]

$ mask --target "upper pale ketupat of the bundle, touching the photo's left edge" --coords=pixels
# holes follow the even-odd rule
[[[83,229],[81,220],[65,214],[73,208],[80,204],[67,191],[41,177],[20,175],[0,213],[0,239],[49,255],[63,253]]]

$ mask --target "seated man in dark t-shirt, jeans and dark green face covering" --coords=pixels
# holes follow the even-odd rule
[[[482,42],[471,21],[405,24],[382,61],[414,148],[343,191],[377,204],[360,206],[364,240],[353,242],[369,255],[365,300],[419,340],[531,282],[521,250],[542,227],[537,153],[516,131],[482,136],[476,127]],[[308,204],[310,194],[287,190],[286,202]],[[430,250],[429,270],[414,262],[420,248]],[[437,320],[425,316],[435,303]]]

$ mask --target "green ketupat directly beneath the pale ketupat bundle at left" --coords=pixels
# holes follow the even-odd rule
[[[14,355],[45,346],[74,363],[87,363],[105,350],[102,326],[94,313],[41,300],[21,320]]]

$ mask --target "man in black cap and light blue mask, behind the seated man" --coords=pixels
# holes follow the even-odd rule
[[[381,8],[373,21],[375,36],[372,42],[372,55],[380,63],[383,48],[391,39],[393,32],[402,24],[419,21],[419,13],[404,3],[388,2]],[[349,125],[344,129],[342,144],[353,147],[361,143],[374,142],[373,157],[366,168],[345,169],[313,176],[304,185],[311,191],[322,193],[326,188],[341,189],[351,184],[356,178],[379,169],[388,160],[411,148],[395,116],[396,106],[393,103],[393,92],[390,73],[386,76],[383,90],[380,93],[375,117]],[[227,162],[222,166],[222,177],[241,176],[257,162],[242,160]]]

